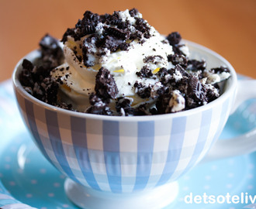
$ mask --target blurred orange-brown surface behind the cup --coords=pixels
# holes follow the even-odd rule
[[[44,34],[61,39],[85,10],[104,14],[133,7],[160,33],[178,31],[182,38],[220,53],[237,73],[256,78],[255,0],[75,2],[0,0],[0,81],[11,77],[18,60],[36,49]]]

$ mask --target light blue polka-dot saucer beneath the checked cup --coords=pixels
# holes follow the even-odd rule
[[[228,139],[255,127],[256,100],[251,100],[230,116],[221,138]],[[0,133],[0,208],[12,208],[5,206],[19,202],[40,209],[78,208],[64,193],[65,176],[44,159],[23,125],[11,81],[0,85]],[[246,199],[244,203],[232,204],[226,201],[211,204],[203,201],[195,203],[192,197],[202,197],[204,193],[214,197],[227,194],[241,197],[244,194],[244,197],[255,197],[256,203],[256,152],[201,164],[182,176],[177,183],[178,197],[164,209],[249,208],[248,205],[253,202],[246,202]],[[14,199],[3,199],[3,194]]]

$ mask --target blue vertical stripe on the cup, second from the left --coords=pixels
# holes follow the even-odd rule
[[[67,163],[67,158],[62,146],[61,134],[57,122],[57,112],[46,109],[45,118],[47,122],[50,144],[53,147],[54,155],[56,156],[56,159],[64,172],[67,173],[67,176],[70,176],[71,179],[76,180],[74,173],[71,171],[71,168]]]

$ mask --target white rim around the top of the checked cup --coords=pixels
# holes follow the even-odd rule
[[[216,105],[220,105],[223,101],[226,101],[228,97],[230,97],[230,94],[232,94],[232,91],[236,91],[237,89],[237,74],[234,70],[234,67],[219,53],[216,53],[213,50],[210,50],[206,46],[202,46],[199,43],[194,43],[192,41],[183,39],[183,42],[188,44],[188,46],[193,46],[195,48],[199,48],[200,50],[206,51],[207,53],[212,54],[217,59],[221,60],[225,65],[230,69],[231,77],[229,78],[229,87],[226,91],[223,92],[223,94],[220,95],[220,98],[217,98],[214,101],[209,102],[206,105],[202,105],[197,108],[192,108],[186,111],[178,111],[175,113],[167,113],[167,114],[161,114],[161,115],[137,115],[137,116],[119,116],[119,115],[95,115],[85,112],[78,112],[78,111],[71,111],[66,110],[64,108],[58,108],[54,105],[49,105],[43,101],[40,101],[37,98],[34,98],[31,94],[25,91],[25,89],[22,87],[22,84],[19,82],[18,74],[19,74],[19,66],[22,64],[23,59],[32,60],[36,57],[39,57],[40,50],[33,50],[30,53],[26,54],[25,57],[22,57],[21,60],[16,64],[16,67],[14,68],[14,71],[12,73],[12,85],[15,89],[15,91],[18,91],[19,94],[22,95],[23,98],[26,98],[27,100],[33,102],[35,105],[42,106],[43,108],[46,108],[50,111],[59,111],[61,114],[64,115],[71,115],[78,118],[88,118],[88,119],[95,119],[95,120],[104,120],[104,121],[118,121],[118,122],[143,122],[143,121],[155,121],[155,120],[162,120],[166,118],[178,118],[178,117],[184,117],[189,115],[194,115],[196,113],[209,110],[213,108]],[[17,96],[16,96],[17,97]]]

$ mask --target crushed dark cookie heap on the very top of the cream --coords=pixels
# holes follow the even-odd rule
[[[90,60],[91,55],[102,57],[106,50],[127,50],[130,41],[150,38],[150,26],[147,21],[140,18],[137,9],[130,9],[130,15],[136,22],[123,20],[119,12],[112,15],[98,15],[86,11],[83,19],[79,19],[73,29],[67,29],[61,41],[67,42],[69,37],[74,41],[83,40],[83,61],[86,67],[92,67],[95,63]],[[97,50],[95,50],[97,49]]]

